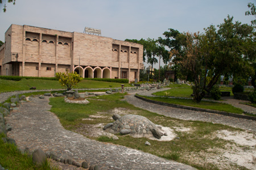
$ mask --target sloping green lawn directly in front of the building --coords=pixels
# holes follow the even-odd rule
[[[131,87],[128,83],[82,80],[75,88],[121,88],[121,84],[125,84],[125,87]],[[36,90],[65,89],[65,87],[60,86],[57,80],[22,79],[13,81],[0,79],[0,92],[29,90],[30,87],[36,87]]]

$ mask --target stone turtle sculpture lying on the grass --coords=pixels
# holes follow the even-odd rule
[[[104,130],[108,130],[113,134],[130,134],[132,137],[155,137],[160,139],[164,134],[164,131],[156,126],[153,122],[146,117],[127,114],[125,116],[113,115],[115,120],[113,123],[104,126]]]

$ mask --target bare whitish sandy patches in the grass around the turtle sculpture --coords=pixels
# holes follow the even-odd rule
[[[134,112],[134,111],[133,111]],[[120,115],[131,114],[132,112],[127,110],[126,108],[115,108],[111,111],[111,113],[117,113]],[[104,116],[102,116],[104,115]],[[93,118],[108,118],[112,120],[110,114],[102,114],[98,113],[97,115],[91,115],[89,118],[85,120],[90,120]],[[114,120],[113,120],[114,121]],[[82,124],[75,131],[82,135],[88,137],[100,137],[101,135],[106,135],[109,138],[113,137],[113,134],[108,133],[103,130],[105,124],[96,124],[96,125],[88,125]],[[171,141],[176,137],[174,130],[176,131],[191,131],[189,128],[182,127],[174,127],[168,128],[163,127],[162,129],[168,134],[166,137],[162,137],[161,139],[156,139],[158,141]],[[256,135],[255,133],[250,133],[249,131],[228,131],[222,130],[217,131],[214,134],[214,137],[218,137],[224,139],[228,142],[226,144],[225,149],[220,148],[210,148],[206,152],[201,152],[197,154],[189,153],[187,158],[189,162],[196,162],[197,164],[204,165],[205,163],[212,163],[216,165],[219,169],[229,169],[232,168],[231,165],[241,165],[248,169],[256,169]],[[151,138],[152,139],[152,138]],[[185,156],[186,157],[186,156]]]

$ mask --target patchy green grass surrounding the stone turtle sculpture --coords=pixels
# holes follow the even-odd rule
[[[198,159],[202,159],[202,161],[206,159],[205,155],[207,156],[207,154],[216,154],[217,156],[219,153],[216,151],[216,148],[225,149],[225,145],[229,142],[213,137],[216,131],[224,129],[229,131],[239,130],[226,125],[200,121],[183,121],[148,112],[136,108],[133,105],[126,103],[126,101],[122,101],[121,99],[123,99],[124,95],[125,94],[117,93],[90,97],[88,99],[90,103],[87,105],[64,103],[64,100],[61,97],[50,98],[50,104],[52,105],[51,112],[55,113],[60,118],[60,122],[63,124],[64,128],[76,131],[76,128],[80,128],[81,124],[108,124],[109,122],[113,122],[114,120],[109,119],[113,114],[113,112],[110,111],[114,108],[125,108],[127,109],[127,112],[130,111],[132,114],[147,117],[150,121],[154,122],[154,124],[174,129],[174,132],[179,139],[175,138],[172,141],[155,141],[147,138],[133,138],[129,135],[119,134],[117,134],[119,138],[117,141],[106,136],[88,136],[88,138],[142,150],[162,158],[186,163],[199,169],[216,169],[216,166],[208,162],[205,162],[204,165],[196,162],[189,162],[191,153],[197,156]],[[74,108],[76,109],[74,110]],[[109,118],[90,117],[90,120],[82,120],[82,118],[87,118],[92,114],[98,115],[99,112]],[[191,130],[175,130],[177,127],[189,128]],[[151,146],[144,145],[146,141],[150,142]]]

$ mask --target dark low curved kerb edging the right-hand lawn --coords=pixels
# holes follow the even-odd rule
[[[146,99],[146,98],[138,96],[138,95],[134,95],[134,96],[137,97],[138,99],[141,99],[141,100],[144,100],[144,101],[148,101],[150,103],[159,104],[159,105],[166,105],[168,107],[174,107],[174,108],[180,108],[180,109],[188,109],[188,110],[191,110],[191,111],[216,113],[216,114],[222,114],[224,116],[231,116],[231,117],[237,117],[237,118],[245,118],[247,120],[256,120],[256,117],[247,116],[247,115],[243,115],[243,114],[229,113],[229,112],[223,112],[223,111],[214,111],[214,110],[211,110],[211,109],[189,107],[189,106],[179,105],[179,104],[170,104],[170,103],[164,103],[162,101],[155,101],[155,100]]]

